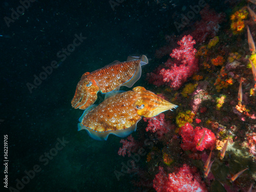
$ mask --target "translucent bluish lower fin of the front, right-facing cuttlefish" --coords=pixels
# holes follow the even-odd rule
[[[131,133],[135,132],[137,129],[137,123],[141,120],[141,118],[132,126],[125,130],[112,130],[112,131],[105,131],[105,132],[96,132],[90,127],[83,126],[82,123],[78,123],[78,131],[80,130],[86,130],[90,137],[92,137],[95,140],[103,141],[107,140],[110,134],[116,135],[118,137],[127,137],[131,135]]]

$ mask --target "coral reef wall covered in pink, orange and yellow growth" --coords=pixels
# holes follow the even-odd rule
[[[230,23],[222,24],[225,14],[207,5],[190,29],[165,35],[168,45],[152,61],[163,65],[147,73],[156,87],[148,86],[179,106],[175,112],[144,118],[147,124],[138,134],[140,146],[149,146],[138,164],[156,191],[255,190],[256,7],[250,5],[251,18],[244,2],[232,5],[226,11]],[[236,175],[241,170],[246,171]]]

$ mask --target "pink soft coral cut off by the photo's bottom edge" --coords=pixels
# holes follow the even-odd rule
[[[205,183],[195,167],[184,164],[176,168],[174,173],[167,176],[163,167],[159,167],[159,173],[153,180],[153,187],[157,192],[170,191],[207,191]]]

